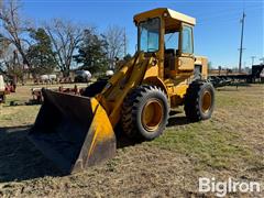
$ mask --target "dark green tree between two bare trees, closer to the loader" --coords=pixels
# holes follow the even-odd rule
[[[85,30],[82,40],[78,45],[78,54],[74,56],[81,69],[91,73],[102,73],[108,68],[107,41],[102,35],[97,35],[91,30]]]

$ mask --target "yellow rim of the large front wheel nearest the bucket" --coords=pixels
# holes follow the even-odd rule
[[[142,123],[148,132],[154,132],[163,120],[163,105],[160,100],[147,101],[142,111]]]

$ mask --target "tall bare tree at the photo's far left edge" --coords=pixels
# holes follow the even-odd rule
[[[2,23],[2,29],[0,33],[0,42],[15,46],[22,57],[23,64],[31,67],[26,58],[25,47],[30,43],[23,37],[23,34],[29,30],[29,28],[26,28],[29,24],[21,20],[20,8],[21,4],[16,0],[9,0],[1,4],[0,21]]]

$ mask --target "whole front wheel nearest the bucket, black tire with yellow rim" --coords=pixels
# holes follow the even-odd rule
[[[123,132],[130,138],[153,140],[160,136],[168,120],[165,92],[156,86],[140,86],[127,96],[122,107]]]

